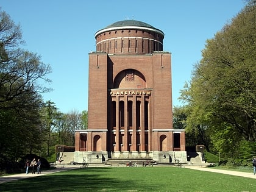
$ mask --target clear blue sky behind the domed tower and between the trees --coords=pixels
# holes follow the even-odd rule
[[[68,113],[88,109],[88,53],[96,51],[95,32],[127,18],[165,33],[164,51],[172,53],[173,105],[182,105],[180,90],[201,60],[205,40],[230,22],[244,1],[0,0],[0,7],[21,25],[24,48],[52,66],[47,86],[54,90],[43,94],[44,101]]]

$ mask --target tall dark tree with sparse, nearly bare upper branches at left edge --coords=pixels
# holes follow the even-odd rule
[[[50,82],[51,68],[21,49],[23,43],[20,26],[0,10],[0,168],[38,150],[41,142],[40,93],[49,91],[41,84]]]

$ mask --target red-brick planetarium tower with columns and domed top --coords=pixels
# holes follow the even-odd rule
[[[88,129],[76,130],[75,162],[187,161],[185,132],[172,129],[171,53],[163,51],[162,30],[124,20],[95,38]]]

